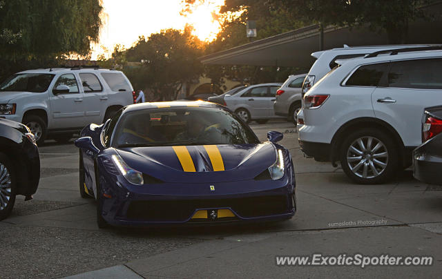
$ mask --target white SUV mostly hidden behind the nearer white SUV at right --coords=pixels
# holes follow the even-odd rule
[[[314,84],[322,79],[332,68],[337,66],[336,60],[353,59],[356,57],[364,57],[369,53],[381,50],[394,50],[398,48],[414,48],[414,47],[428,47],[431,45],[385,45],[385,46],[347,46],[343,48],[332,48],[329,50],[321,50],[311,53],[311,57],[316,59],[313,66],[311,66],[309,73],[305,77],[302,84],[302,97],[305,93],[314,86]],[[298,128],[304,123],[304,116],[302,109],[298,113]]]

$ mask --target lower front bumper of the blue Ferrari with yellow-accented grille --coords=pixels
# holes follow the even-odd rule
[[[100,184],[104,186],[103,192],[112,198],[102,197],[102,216],[106,222],[116,226],[286,220],[296,211],[296,197],[294,183],[282,180],[285,184],[273,189],[242,193],[226,193],[226,189],[232,186],[238,189],[243,184],[256,181],[218,183],[212,193],[207,184],[122,186],[122,181],[119,181],[113,184],[119,186],[110,186],[112,182],[104,183]],[[244,186],[244,189],[247,188]],[[209,194],[200,189],[207,189]],[[196,194],[198,191],[201,192],[199,195]]]

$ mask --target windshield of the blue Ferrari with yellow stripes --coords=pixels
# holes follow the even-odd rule
[[[238,117],[220,108],[172,107],[136,110],[120,119],[112,146],[257,144]]]

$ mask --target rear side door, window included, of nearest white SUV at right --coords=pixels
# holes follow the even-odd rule
[[[372,93],[374,115],[391,124],[405,146],[419,146],[423,110],[442,104],[442,59],[392,61]]]

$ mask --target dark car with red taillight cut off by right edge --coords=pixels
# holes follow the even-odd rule
[[[423,144],[413,151],[413,176],[430,184],[442,184],[442,106],[426,108],[422,124]]]

